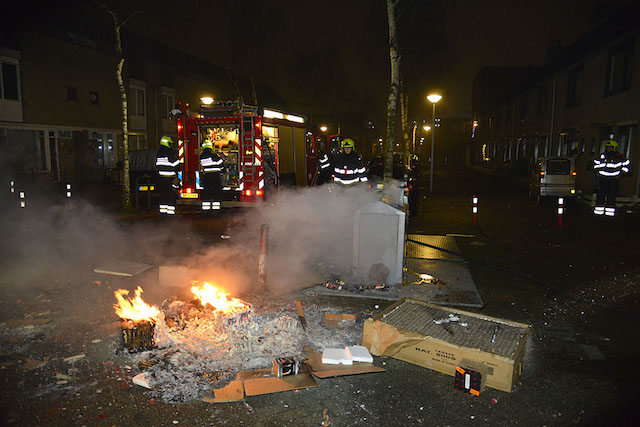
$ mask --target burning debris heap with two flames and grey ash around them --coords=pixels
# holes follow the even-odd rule
[[[140,288],[132,300],[123,297],[126,291],[116,291],[124,347],[132,353],[151,349],[134,357],[158,398],[198,399],[241,370],[268,367],[283,356],[303,359],[305,336],[297,318],[285,311],[258,315],[251,304],[206,282],[191,291],[193,301],[173,298],[162,310],[144,303]]]

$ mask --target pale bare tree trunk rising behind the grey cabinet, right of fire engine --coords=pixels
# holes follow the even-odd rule
[[[396,8],[397,0],[387,0],[387,18],[389,20],[389,57],[391,59],[391,87],[387,101],[387,140],[384,159],[384,180],[393,177],[393,147],[396,131],[396,108],[398,105],[398,88],[400,86],[400,51],[396,36]]]

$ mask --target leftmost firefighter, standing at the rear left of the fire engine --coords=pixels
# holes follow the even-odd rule
[[[164,135],[160,138],[160,148],[156,154],[156,167],[158,168],[158,189],[160,190],[160,214],[176,214],[176,194],[178,187],[178,153],[171,148],[173,139]]]

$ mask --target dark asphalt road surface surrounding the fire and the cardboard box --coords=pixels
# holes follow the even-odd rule
[[[50,322],[0,326],[2,424],[307,426],[321,424],[326,409],[336,426],[635,425],[640,213],[594,218],[576,203],[559,229],[555,207],[536,206],[517,183],[468,169],[434,179],[433,194],[426,194],[423,182],[419,213],[408,231],[473,236],[457,242],[486,302],[474,311],[533,326],[513,392],[487,389],[474,397],[455,391],[449,376],[375,358],[385,373],[325,379],[317,388],[244,402],[162,403],[131,384],[137,367],[127,355],[115,354],[118,330],[110,304],[117,280],[96,283],[78,262],[48,277],[28,271],[20,276],[5,263],[4,272],[12,274],[2,278],[0,321]],[[475,228],[473,195],[480,199]],[[27,233],[11,221],[12,213],[4,215],[4,225],[14,226],[12,237]],[[185,215],[170,227],[175,239],[192,242],[196,250],[232,232],[236,216]],[[144,224],[149,234],[136,239],[150,239],[166,224],[153,214],[113,217],[122,230]],[[158,252],[171,256],[171,248]],[[3,256],[18,262],[21,254],[5,247]],[[378,311],[376,304],[389,304],[344,297],[307,302],[366,315]],[[63,360],[78,354],[85,357]]]

